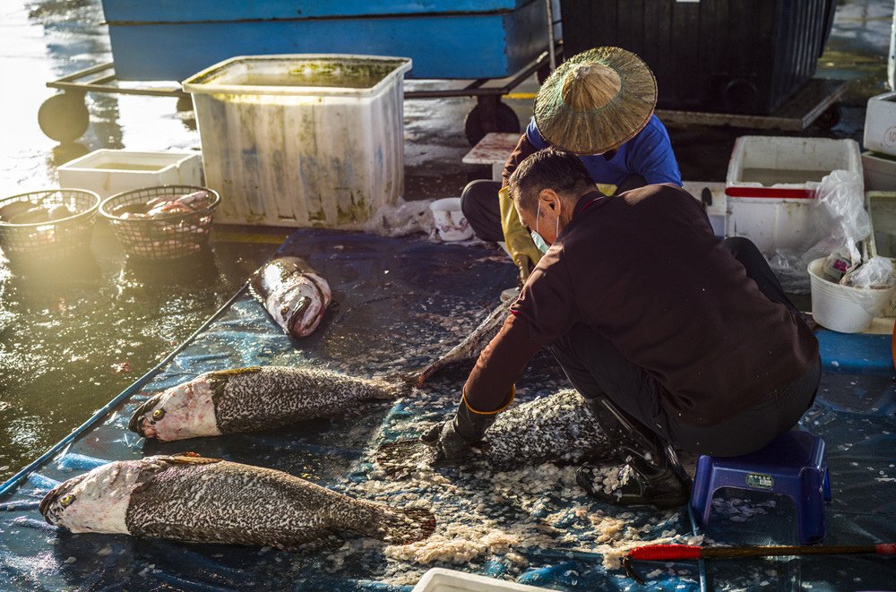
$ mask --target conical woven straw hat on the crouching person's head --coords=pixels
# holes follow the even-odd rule
[[[535,124],[557,148],[600,154],[640,132],[656,104],[657,81],[640,57],[595,47],[548,76],[535,99]]]

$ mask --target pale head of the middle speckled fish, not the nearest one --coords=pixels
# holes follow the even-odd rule
[[[211,384],[200,377],[153,395],[134,411],[128,429],[162,442],[220,435]]]

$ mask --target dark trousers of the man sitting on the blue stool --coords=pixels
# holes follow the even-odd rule
[[[756,246],[744,237],[728,238],[725,245],[754,279],[762,294],[798,313]],[[802,376],[769,393],[754,408],[731,416],[718,425],[682,423],[660,405],[659,382],[633,364],[607,339],[582,324],[573,326],[551,346],[557,362],[582,396],[606,396],[629,418],[650,429],[680,450],[713,456],[737,456],[771,442],[797,424],[813,401],[821,377],[821,360]]]

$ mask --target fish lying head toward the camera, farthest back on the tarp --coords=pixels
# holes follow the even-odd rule
[[[297,338],[317,329],[332,297],[327,280],[298,257],[264,263],[249,279],[249,289],[280,329]]]

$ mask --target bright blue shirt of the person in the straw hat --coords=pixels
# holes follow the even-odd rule
[[[547,142],[532,117],[526,128],[526,138],[537,150],[547,148]],[[672,142],[666,126],[657,116],[650,116],[650,121],[631,140],[616,149],[612,159],[603,155],[580,156],[591,178],[595,183],[619,185],[626,176],[641,175],[648,184],[674,183],[681,186],[681,173],[672,152]]]

